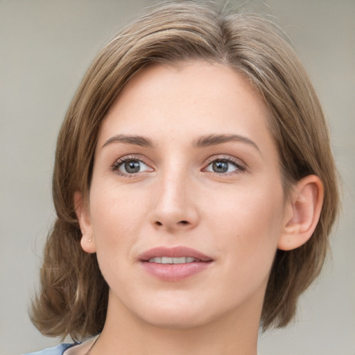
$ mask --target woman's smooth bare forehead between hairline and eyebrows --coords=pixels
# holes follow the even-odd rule
[[[113,134],[149,133],[159,140],[266,131],[265,105],[246,78],[222,64],[188,62],[137,73],[103,120],[99,140]]]

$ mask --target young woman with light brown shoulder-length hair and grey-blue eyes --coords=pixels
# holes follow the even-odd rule
[[[338,213],[300,60],[266,19],[206,1],[159,6],[98,54],[53,199],[32,320],[76,344],[42,354],[254,355],[260,324],[293,319]]]

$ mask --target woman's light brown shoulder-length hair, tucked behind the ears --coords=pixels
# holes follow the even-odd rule
[[[192,60],[234,68],[263,98],[286,198],[306,175],[318,175],[324,184],[320,221],[311,239],[275,254],[263,329],[288,324],[298,297],[320,273],[338,214],[338,179],[327,123],[306,70],[268,19],[218,10],[212,1],[168,1],[123,28],[98,53],[62,124],[53,173],[58,217],[46,241],[40,293],[31,313],[42,334],[80,339],[103,329],[108,286],[96,254],[80,247],[73,195],[80,191],[88,196],[101,122],[130,78],[151,64]]]

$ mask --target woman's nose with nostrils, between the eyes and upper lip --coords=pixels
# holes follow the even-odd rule
[[[191,230],[199,220],[196,189],[187,173],[166,173],[157,182],[150,223],[157,230]]]

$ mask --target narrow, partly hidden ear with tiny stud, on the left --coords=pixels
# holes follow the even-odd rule
[[[96,244],[94,233],[92,232],[92,219],[90,216],[89,206],[85,203],[83,194],[79,191],[74,193],[74,208],[78,217],[81,231],[81,248],[85,252],[96,252]]]

